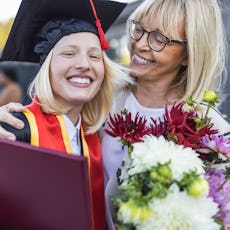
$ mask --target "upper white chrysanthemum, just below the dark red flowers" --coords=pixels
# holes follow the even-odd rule
[[[201,159],[191,148],[167,141],[163,136],[157,138],[146,135],[143,140],[144,142],[133,144],[129,175],[144,172],[158,163],[165,164],[169,161],[171,161],[173,179],[180,180],[184,172],[191,170],[198,174],[204,173]]]

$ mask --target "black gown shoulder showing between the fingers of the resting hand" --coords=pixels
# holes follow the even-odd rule
[[[7,131],[13,133],[16,136],[17,141],[30,143],[30,126],[26,116],[23,113],[13,113],[13,115],[24,122],[25,126],[23,129],[16,129],[4,122],[1,122],[1,126]]]

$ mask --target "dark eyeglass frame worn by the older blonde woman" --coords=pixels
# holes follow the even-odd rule
[[[130,24],[135,24],[135,25],[138,24],[138,25],[141,26],[143,32],[142,32],[142,35],[140,36],[140,38],[136,39],[136,38],[134,38],[134,37],[132,36],[132,33],[131,33],[131,27],[132,27],[132,26],[131,26]],[[152,49],[152,50],[154,50],[154,51],[156,51],[156,52],[161,52],[161,51],[165,48],[165,46],[166,46],[167,44],[170,44],[170,43],[177,43],[177,44],[182,44],[182,45],[186,45],[186,43],[187,43],[187,41],[185,41],[185,40],[179,41],[179,40],[171,39],[171,38],[165,36],[165,35],[162,34],[160,31],[157,31],[157,30],[147,31],[147,30],[143,27],[143,25],[142,25],[140,22],[137,22],[137,21],[135,21],[135,20],[133,20],[133,19],[130,19],[130,20],[129,20],[129,35],[130,35],[130,37],[131,37],[133,40],[139,41],[139,40],[143,37],[143,35],[144,35],[145,33],[147,33],[147,42],[148,42],[148,46],[150,47],[150,49]],[[156,50],[154,47],[152,47],[151,43],[149,42],[149,35],[150,35],[151,33],[154,33],[154,36],[155,36],[155,34],[160,34],[160,35],[162,35],[162,36],[166,39],[166,42],[162,42],[162,44],[164,44],[164,45],[162,46],[161,49]]]

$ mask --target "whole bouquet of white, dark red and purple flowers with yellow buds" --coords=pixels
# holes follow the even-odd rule
[[[202,113],[189,97],[149,126],[138,113],[110,116],[106,132],[128,147],[113,197],[116,229],[230,229],[230,168],[213,167],[229,162],[230,140],[208,118],[217,100],[205,91]]]

